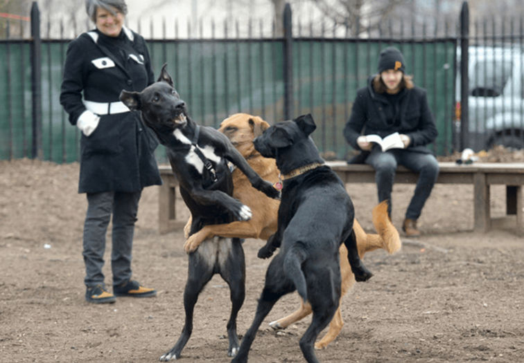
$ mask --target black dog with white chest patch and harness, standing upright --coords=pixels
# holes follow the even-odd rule
[[[204,225],[247,221],[251,210],[232,197],[233,181],[227,160],[241,169],[266,195],[277,198],[279,192],[250,167],[229,139],[212,127],[201,127],[187,114],[186,104],[173,88],[173,79],[162,67],[158,82],[141,93],[122,91],[120,100],[131,110],[141,111],[143,122],[166,146],[171,168],[180,183],[180,194],[191,211],[191,232]],[[232,313],[227,323],[229,357],[238,351],[236,316],[245,298],[245,259],[239,239],[218,238],[205,241],[189,254],[189,272],[184,290],[186,322],[182,335],[161,361],[175,360],[193,331],[193,308],[202,288],[213,274],[220,274],[229,284]]]

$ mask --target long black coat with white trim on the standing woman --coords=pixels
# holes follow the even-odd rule
[[[123,89],[142,91],[155,82],[143,37],[123,28],[118,39],[98,30],[82,33],[67,48],[60,103],[76,124],[83,99],[119,102]],[[80,139],[79,193],[138,192],[161,185],[155,134],[138,111],[101,115],[98,127]]]

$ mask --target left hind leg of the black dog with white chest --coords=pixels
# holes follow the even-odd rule
[[[207,245],[212,246],[213,242],[209,241]],[[204,252],[204,249],[201,250]],[[180,358],[182,349],[186,346],[191,333],[193,333],[193,312],[195,304],[198,300],[198,295],[202,292],[202,289],[213,277],[213,265],[209,264],[204,256],[193,253],[189,255],[189,272],[186,282],[186,288],[184,288],[184,310],[186,313],[186,322],[184,328],[182,328],[182,335],[178,338],[176,344],[166,354],[160,357],[161,362],[168,362],[169,360],[177,360]]]

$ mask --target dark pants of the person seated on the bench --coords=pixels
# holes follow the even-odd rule
[[[405,149],[390,149],[382,152],[380,149],[374,148],[367,157],[366,164],[371,165],[376,170],[375,182],[378,189],[378,202],[390,201],[387,210],[390,216],[392,210],[391,192],[396,167],[403,165],[419,173],[417,187],[415,187],[408,210],[405,212],[405,218],[417,221],[439,176],[437,158],[430,153],[419,153]]]

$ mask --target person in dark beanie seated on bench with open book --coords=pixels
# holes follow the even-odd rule
[[[404,57],[400,50],[389,47],[378,56],[378,73],[369,76],[367,86],[359,89],[344,127],[349,144],[361,150],[349,162],[365,162],[375,171],[378,201],[390,201],[397,165],[419,173],[417,187],[405,212],[402,229],[408,236],[419,236],[417,219],[439,175],[439,165],[426,147],[437,138],[437,128],[428,106],[426,90],[414,86],[412,77],[405,75]],[[385,152],[366,136],[376,134],[385,138],[398,132],[401,149]]]

